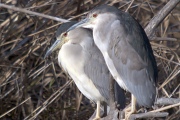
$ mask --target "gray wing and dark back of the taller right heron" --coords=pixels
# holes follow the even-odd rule
[[[116,21],[114,28],[112,26],[108,54],[128,91],[140,105],[151,107],[156,96],[157,80],[152,48],[144,30],[131,16],[126,13],[119,16],[119,22]]]

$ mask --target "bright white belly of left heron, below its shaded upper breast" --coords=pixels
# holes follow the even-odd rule
[[[59,52],[58,61],[63,67],[63,69],[68,72],[71,78],[74,80],[76,86],[81,91],[81,93],[86,96],[88,99],[97,102],[97,101],[106,101],[105,98],[100,94],[99,90],[95,87],[93,82],[88,78],[84,73],[83,63],[77,64],[73,60],[64,59],[69,58],[63,48]]]

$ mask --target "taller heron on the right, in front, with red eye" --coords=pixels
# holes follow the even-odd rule
[[[146,33],[128,13],[101,5],[72,26],[93,30],[96,46],[118,84],[132,94],[140,106],[152,107],[156,98],[157,65]],[[134,98],[134,97],[135,98]]]

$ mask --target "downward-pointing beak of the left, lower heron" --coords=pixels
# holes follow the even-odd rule
[[[54,44],[49,48],[49,50],[46,52],[44,58],[46,58],[47,56],[49,56],[53,51],[55,51],[59,46],[61,46],[61,40],[56,40],[54,42]]]

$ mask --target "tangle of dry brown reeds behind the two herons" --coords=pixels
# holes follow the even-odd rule
[[[168,1],[134,0],[128,12],[145,28]],[[0,3],[79,21],[101,4],[125,11],[131,0],[0,0]],[[0,7],[0,119],[86,120],[93,114],[95,105],[59,67],[58,51],[44,59],[60,24]],[[158,97],[179,98],[180,4],[161,22],[150,41],[158,64]],[[126,94],[128,104],[130,95]],[[179,107],[166,111],[167,120],[180,119]]]

